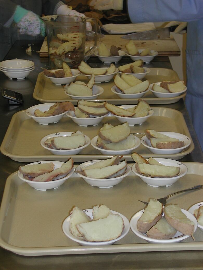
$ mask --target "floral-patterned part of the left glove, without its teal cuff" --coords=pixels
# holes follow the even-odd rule
[[[45,26],[38,15],[29,11],[22,19],[17,23],[20,34],[37,36],[41,33],[45,36]]]

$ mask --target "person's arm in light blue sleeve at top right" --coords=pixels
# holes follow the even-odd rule
[[[202,0],[127,0],[132,23],[197,21],[203,18]]]

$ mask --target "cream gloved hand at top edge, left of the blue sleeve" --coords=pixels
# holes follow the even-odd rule
[[[123,0],[91,0],[89,6],[97,10],[123,10]]]

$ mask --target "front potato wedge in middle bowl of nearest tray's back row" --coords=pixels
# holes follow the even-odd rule
[[[127,162],[123,160],[120,164],[83,170],[85,176],[96,179],[114,178],[123,175],[127,169]]]

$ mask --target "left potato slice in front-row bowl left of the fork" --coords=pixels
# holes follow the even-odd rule
[[[90,222],[91,218],[83,212],[80,208],[75,206],[73,210],[70,212],[70,232],[75,237],[82,237],[83,235],[80,234],[78,229],[76,228],[77,224],[84,223],[84,222]]]

